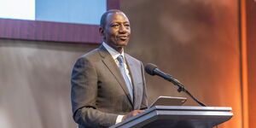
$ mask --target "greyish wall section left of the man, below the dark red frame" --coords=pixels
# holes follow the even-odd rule
[[[96,44],[0,40],[0,127],[74,128],[70,75]]]

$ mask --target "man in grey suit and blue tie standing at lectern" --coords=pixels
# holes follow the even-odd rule
[[[115,125],[148,108],[143,63],[124,53],[131,34],[128,18],[108,10],[99,32],[102,45],[73,67],[73,119],[79,128]]]

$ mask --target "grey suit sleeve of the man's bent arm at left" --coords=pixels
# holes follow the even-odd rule
[[[86,58],[81,57],[76,61],[71,84],[73,119],[76,123],[89,127],[108,127],[115,124],[117,114],[96,109],[97,73],[94,65]]]

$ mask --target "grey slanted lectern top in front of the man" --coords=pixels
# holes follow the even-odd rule
[[[232,108],[154,106],[110,128],[212,128],[232,118]]]

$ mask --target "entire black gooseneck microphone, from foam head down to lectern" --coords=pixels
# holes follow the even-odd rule
[[[195,98],[195,96],[192,96],[192,94],[189,92],[189,90],[186,90],[184,88],[184,85],[181,84],[177,79],[174,79],[171,75],[164,73],[162,71],[160,71],[160,69],[157,68],[157,66],[155,66],[152,63],[148,63],[145,66],[145,71],[146,73],[154,76],[154,75],[158,75],[163,79],[166,79],[167,81],[172,82],[172,84],[177,85],[177,91],[178,92],[185,92],[188,96],[190,96],[193,100],[195,100],[195,102],[197,102],[198,104],[200,104],[202,107],[206,107],[206,105],[202,102],[200,102],[197,98]]]

